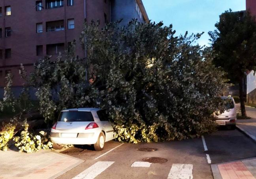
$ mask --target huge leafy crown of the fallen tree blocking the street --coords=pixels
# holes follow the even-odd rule
[[[119,141],[199,137],[215,130],[212,114],[222,109],[219,95],[227,87],[209,49],[195,45],[200,35],[176,37],[162,22],[113,22],[101,30],[92,22],[81,33],[86,59],[75,56],[72,43],[56,60],[39,60],[28,81],[46,121],[63,109],[100,107]]]

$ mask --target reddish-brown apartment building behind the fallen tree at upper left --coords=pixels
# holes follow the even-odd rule
[[[79,44],[84,19],[105,23],[132,18],[149,22],[141,0],[1,0],[0,1],[0,97],[6,74],[13,74],[14,90],[19,91],[20,64],[31,72],[45,55],[64,53],[69,42],[77,41],[76,54],[85,53]]]

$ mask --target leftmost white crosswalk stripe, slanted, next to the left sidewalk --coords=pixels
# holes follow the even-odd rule
[[[90,166],[83,172],[79,173],[73,179],[94,179],[114,162],[97,162],[96,164]]]

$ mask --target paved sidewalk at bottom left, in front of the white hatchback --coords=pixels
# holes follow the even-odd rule
[[[30,154],[0,151],[0,179],[55,179],[82,162],[50,150]]]

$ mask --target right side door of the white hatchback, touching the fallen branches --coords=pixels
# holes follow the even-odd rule
[[[102,125],[104,125],[104,130],[105,130],[105,141],[113,140],[115,138],[114,136],[114,129],[111,125],[111,123],[108,120],[107,114],[105,110],[99,110],[97,111],[98,117],[100,119],[100,122]]]

